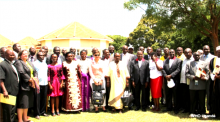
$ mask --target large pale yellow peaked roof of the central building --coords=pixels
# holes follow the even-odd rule
[[[84,25],[78,23],[78,22],[72,22],[69,25],[60,28],[58,30],[55,30],[43,37],[41,37],[39,40],[42,39],[55,39],[55,38],[93,38],[93,39],[107,39],[109,41],[112,41],[111,38],[102,35],[96,31],[93,31]]]

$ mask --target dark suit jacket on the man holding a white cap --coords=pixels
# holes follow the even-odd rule
[[[182,67],[182,61],[178,58],[175,58],[171,67],[169,67],[169,58],[164,61],[163,65],[163,76],[171,75],[171,79],[174,80],[175,84],[178,85],[180,83],[180,71]],[[165,83],[167,82],[166,78]]]

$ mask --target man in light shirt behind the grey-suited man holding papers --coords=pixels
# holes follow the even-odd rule
[[[203,46],[203,55],[201,56],[200,60],[205,61],[208,63],[210,63],[210,61],[215,57],[214,55],[212,55],[210,53],[210,48],[208,45]],[[206,85],[206,95],[207,95],[207,110],[209,110],[209,113],[212,113],[212,108],[211,108],[211,100],[212,100],[212,89],[213,89],[213,82],[211,82],[211,79],[209,78],[209,80],[207,81],[207,85]]]

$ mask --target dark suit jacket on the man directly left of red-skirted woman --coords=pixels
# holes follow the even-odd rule
[[[131,62],[131,81],[137,84],[139,81],[142,85],[150,81],[150,70],[149,62],[147,60],[142,61],[141,67],[139,68],[138,61],[134,60]]]

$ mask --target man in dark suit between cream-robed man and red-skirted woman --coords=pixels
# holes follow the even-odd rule
[[[137,59],[131,63],[131,80],[135,89],[136,111],[140,109],[140,91],[142,91],[142,111],[146,111],[146,88],[149,82],[149,62],[143,59],[143,52],[137,52]]]

